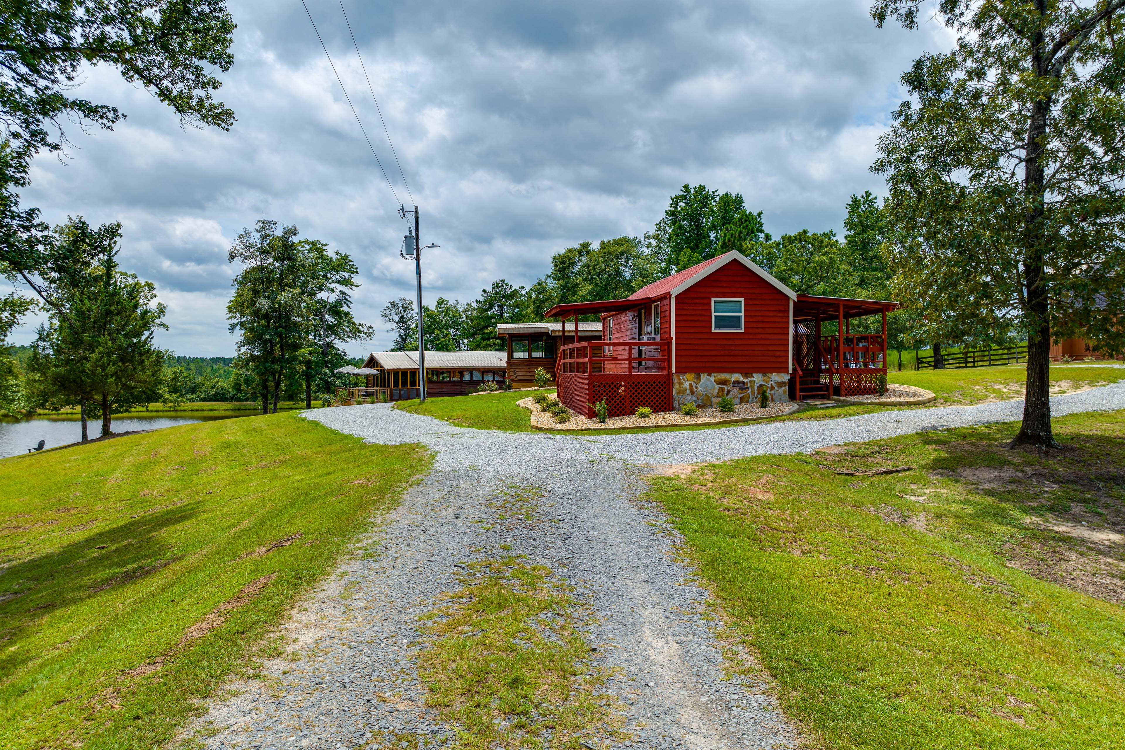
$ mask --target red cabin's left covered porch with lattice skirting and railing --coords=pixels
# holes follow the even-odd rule
[[[647,406],[672,409],[670,336],[610,334],[592,341],[579,338],[578,316],[636,313],[651,309],[656,298],[602,300],[556,305],[546,317],[562,320],[562,337],[555,365],[558,398],[568,408],[594,417],[593,404],[604,400],[611,417],[633,414]]]

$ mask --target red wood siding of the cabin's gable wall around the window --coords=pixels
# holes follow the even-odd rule
[[[712,297],[745,300],[742,332],[711,331]],[[676,296],[676,372],[789,372],[789,297],[737,261]]]

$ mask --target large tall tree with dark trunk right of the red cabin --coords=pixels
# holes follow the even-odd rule
[[[879,0],[882,26],[922,3]],[[926,13],[930,6],[926,3]],[[958,326],[1024,332],[1024,418],[1012,445],[1055,444],[1052,336],[1120,351],[1125,327],[1125,0],[938,0],[954,49],[902,81],[873,170],[890,187],[890,265]]]

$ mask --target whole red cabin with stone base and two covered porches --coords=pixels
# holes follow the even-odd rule
[[[798,295],[738,252],[638,290],[628,299],[556,305],[562,319],[556,362],[559,399],[593,417],[736,403],[873,394],[886,373],[886,313],[897,302]],[[601,341],[577,335],[579,315],[598,315]],[[850,320],[882,315],[881,334],[852,334]],[[572,323],[568,324],[568,319]],[[835,322],[843,333],[824,335]],[[573,343],[566,343],[570,341]]]

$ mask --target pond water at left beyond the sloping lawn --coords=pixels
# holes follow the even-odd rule
[[[159,430],[173,425],[252,417],[256,412],[164,412],[156,414],[120,414],[114,416],[114,432],[130,430]],[[100,421],[88,421],[87,432],[97,437],[101,431]],[[0,421],[0,458],[26,453],[38,442],[46,441],[44,448],[57,448],[82,440],[82,422],[78,415],[36,416],[30,419]]]

